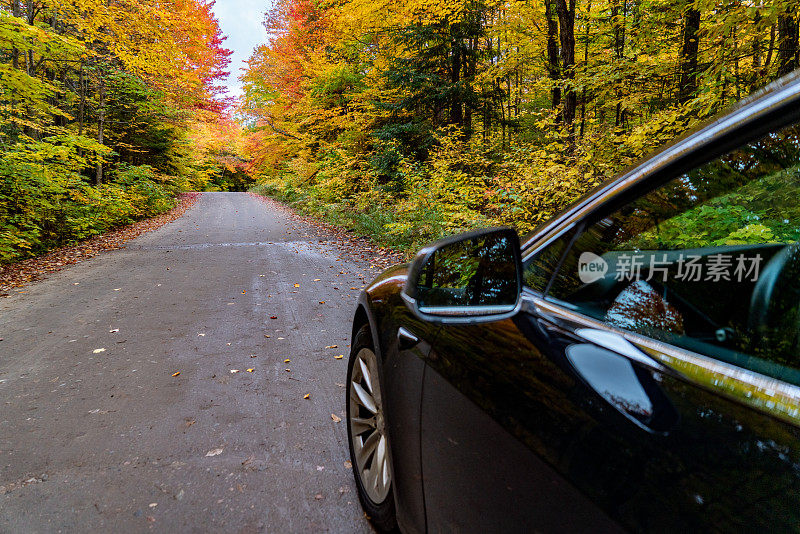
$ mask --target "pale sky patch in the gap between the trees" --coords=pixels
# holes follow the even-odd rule
[[[217,0],[214,4],[214,14],[222,33],[228,37],[224,46],[233,50],[231,74],[225,82],[229,96],[241,96],[240,69],[245,66],[253,49],[267,40],[267,30],[262,21],[271,4],[271,0]]]

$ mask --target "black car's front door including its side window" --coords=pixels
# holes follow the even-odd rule
[[[431,531],[797,529],[798,139],[610,200],[526,262],[517,316],[442,329]]]

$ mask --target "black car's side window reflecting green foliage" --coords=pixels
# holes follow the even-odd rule
[[[548,298],[774,375],[800,368],[800,127],[590,224]],[[776,365],[777,364],[777,365]]]

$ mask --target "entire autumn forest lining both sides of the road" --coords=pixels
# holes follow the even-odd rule
[[[254,181],[396,246],[527,232],[800,67],[797,0],[276,0],[234,102],[213,7],[0,3],[0,263]]]

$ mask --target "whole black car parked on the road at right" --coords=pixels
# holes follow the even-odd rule
[[[362,505],[403,532],[800,530],[800,76],[522,240],[361,295]]]

